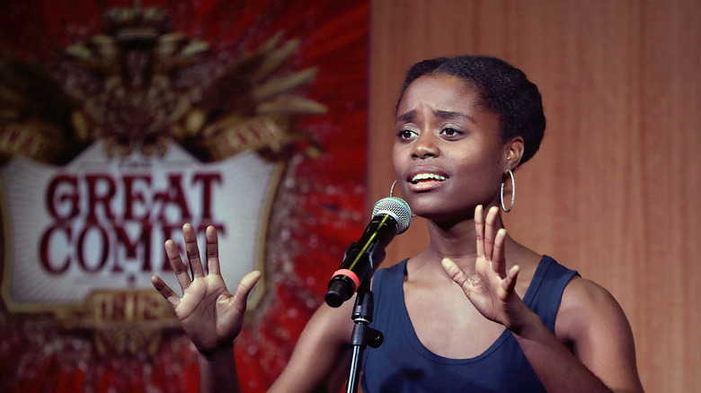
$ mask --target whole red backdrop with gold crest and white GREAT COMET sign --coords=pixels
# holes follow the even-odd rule
[[[367,2],[5,8],[0,390],[196,391],[149,283],[179,288],[163,241],[190,222],[230,287],[263,270],[236,355],[265,391],[368,221]]]

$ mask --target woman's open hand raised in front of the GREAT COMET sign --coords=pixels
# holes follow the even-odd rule
[[[171,303],[175,315],[180,319],[185,333],[201,354],[213,354],[218,349],[231,350],[236,336],[241,332],[246,310],[246,299],[253,286],[261,278],[261,272],[253,271],[236,288],[234,295],[226,289],[219,270],[217,231],[209,226],[207,239],[207,266],[205,275],[197,246],[197,235],[189,223],[182,226],[182,238],[190,261],[191,275],[182,262],[180,252],[173,240],[165,241],[165,253],[182,289],[182,297],[154,275],[151,283]]]

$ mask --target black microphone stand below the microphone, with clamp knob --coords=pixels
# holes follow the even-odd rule
[[[353,334],[351,336],[353,354],[351,357],[351,371],[348,375],[346,393],[356,393],[358,391],[363,350],[365,350],[367,345],[370,345],[372,348],[377,348],[384,340],[384,336],[382,336],[379,330],[368,326],[368,324],[372,322],[375,309],[375,297],[372,291],[370,291],[369,281],[370,280],[366,280],[363,284],[360,284],[351,316],[355,325],[353,326]]]

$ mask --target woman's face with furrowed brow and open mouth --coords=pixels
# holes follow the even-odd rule
[[[392,152],[397,186],[414,214],[437,222],[471,218],[499,201],[510,144],[499,116],[450,75],[421,76],[404,92]]]

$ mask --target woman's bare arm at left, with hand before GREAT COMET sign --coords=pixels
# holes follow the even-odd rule
[[[207,264],[204,273],[197,236],[190,224],[182,227],[190,274],[182,262],[173,240],[165,242],[165,251],[182,289],[178,296],[157,275],[151,281],[155,289],[171,303],[182,327],[197,347],[200,363],[200,391],[239,391],[233,345],[243,327],[246,298],[261,277],[260,272],[245,275],[235,294],[229,293],[220,274],[217,231],[206,231]],[[333,376],[342,376],[342,360],[349,347],[353,323],[352,299],[332,309],[323,304],[309,320],[286,369],[271,391],[312,392],[323,389]],[[305,321],[300,321],[305,323]],[[335,379],[333,388],[341,388],[343,378]],[[336,387],[338,387],[336,389]]]

